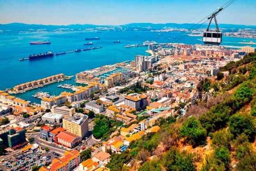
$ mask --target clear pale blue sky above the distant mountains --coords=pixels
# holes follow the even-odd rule
[[[197,23],[228,0],[0,0],[0,23]],[[236,0],[218,23],[256,25],[256,0]]]

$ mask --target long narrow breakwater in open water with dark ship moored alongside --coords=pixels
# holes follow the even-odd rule
[[[98,46],[98,47],[91,47],[91,48],[86,48],[86,49],[76,49],[76,50],[71,50],[68,52],[56,52],[56,53],[52,53],[47,52],[45,54],[38,54],[38,55],[30,55],[28,58],[21,58],[19,59],[19,61],[24,61],[24,60],[29,60],[29,59],[37,59],[37,58],[43,58],[43,57],[48,57],[48,56],[53,56],[53,55],[64,55],[66,53],[72,53],[72,52],[81,52],[81,51],[87,51],[87,50],[95,50],[95,49],[99,49],[99,48],[103,48],[102,46]]]

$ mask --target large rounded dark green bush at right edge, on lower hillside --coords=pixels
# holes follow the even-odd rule
[[[249,140],[253,141],[255,137],[255,119],[249,113],[234,114],[229,118],[229,130],[236,138],[244,133]]]

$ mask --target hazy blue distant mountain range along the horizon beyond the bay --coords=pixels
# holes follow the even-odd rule
[[[184,23],[166,23],[166,24],[153,24],[153,23],[130,23],[126,25],[92,25],[92,24],[73,24],[73,25],[37,25],[37,24],[24,24],[24,23],[9,23],[0,24],[0,30],[4,32],[24,32],[24,31],[81,31],[81,30],[161,30],[167,28],[177,29],[190,29],[194,24]],[[201,25],[198,28],[206,28],[207,25]],[[256,29],[256,25],[233,25],[233,24],[219,24],[222,29]]]

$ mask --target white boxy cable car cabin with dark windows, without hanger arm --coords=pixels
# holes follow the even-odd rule
[[[203,42],[204,44],[219,46],[219,44],[222,43],[222,32],[203,32]]]

